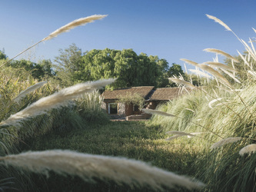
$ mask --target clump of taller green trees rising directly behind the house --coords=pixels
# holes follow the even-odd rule
[[[74,44],[56,57],[55,71],[61,84],[70,85],[81,81],[101,78],[118,78],[111,88],[168,84],[168,62],[158,56],[137,55],[132,49],[122,51],[105,48],[85,53]]]

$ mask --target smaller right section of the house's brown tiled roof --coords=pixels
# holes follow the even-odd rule
[[[183,93],[184,91],[182,91]],[[177,98],[181,93],[181,88],[157,88],[151,95],[152,101],[168,101]]]

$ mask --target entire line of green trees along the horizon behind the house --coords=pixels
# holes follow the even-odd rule
[[[0,51],[0,60],[6,60],[5,51]],[[136,86],[174,87],[168,81],[173,75],[185,75],[181,65],[171,66],[164,58],[137,55],[130,49],[81,51],[75,44],[59,49],[59,55],[52,62],[44,59],[38,62],[21,59],[8,62],[5,67],[22,68],[29,71],[38,81],[48,80],[61,86],[70,86],[101,78],[117,78],[110,89]]]

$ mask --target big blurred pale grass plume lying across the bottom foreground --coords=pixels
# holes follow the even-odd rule
[[[108,157],[95,154],[81,154],[75,151],[35,151],[0,157],[1,164],[21,167],[35,173],[48,175],[48,170],[58,174],[77,175],[84,180],[111,179],[118,184],[131,186],[147,185],[155,190],[162,186],[185,187],[189,190],[204,187],[199,181],[179,176],[171,172],[151,167],[141,161],[121,157]]]

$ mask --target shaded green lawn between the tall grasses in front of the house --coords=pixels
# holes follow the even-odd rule
[[[194,160],[201,152],[195,139],[165,141],[167,136],[158,126],[147,121],[111,121],[106,124],[90,124],[85,129],[55,130],[44,136],[25,141],[22,151],[68,149],[87,154],[104,154],[128,157],[148,162],[156,167],[193,177]],[[188,144],[189,143],[189,144]],[[88,184],[78,177],[61,177],[51,173],[49,177],[32,174],[33,190],[39,191],[138,191],[148,188],[128,187],[113,181],[97,180]]]

